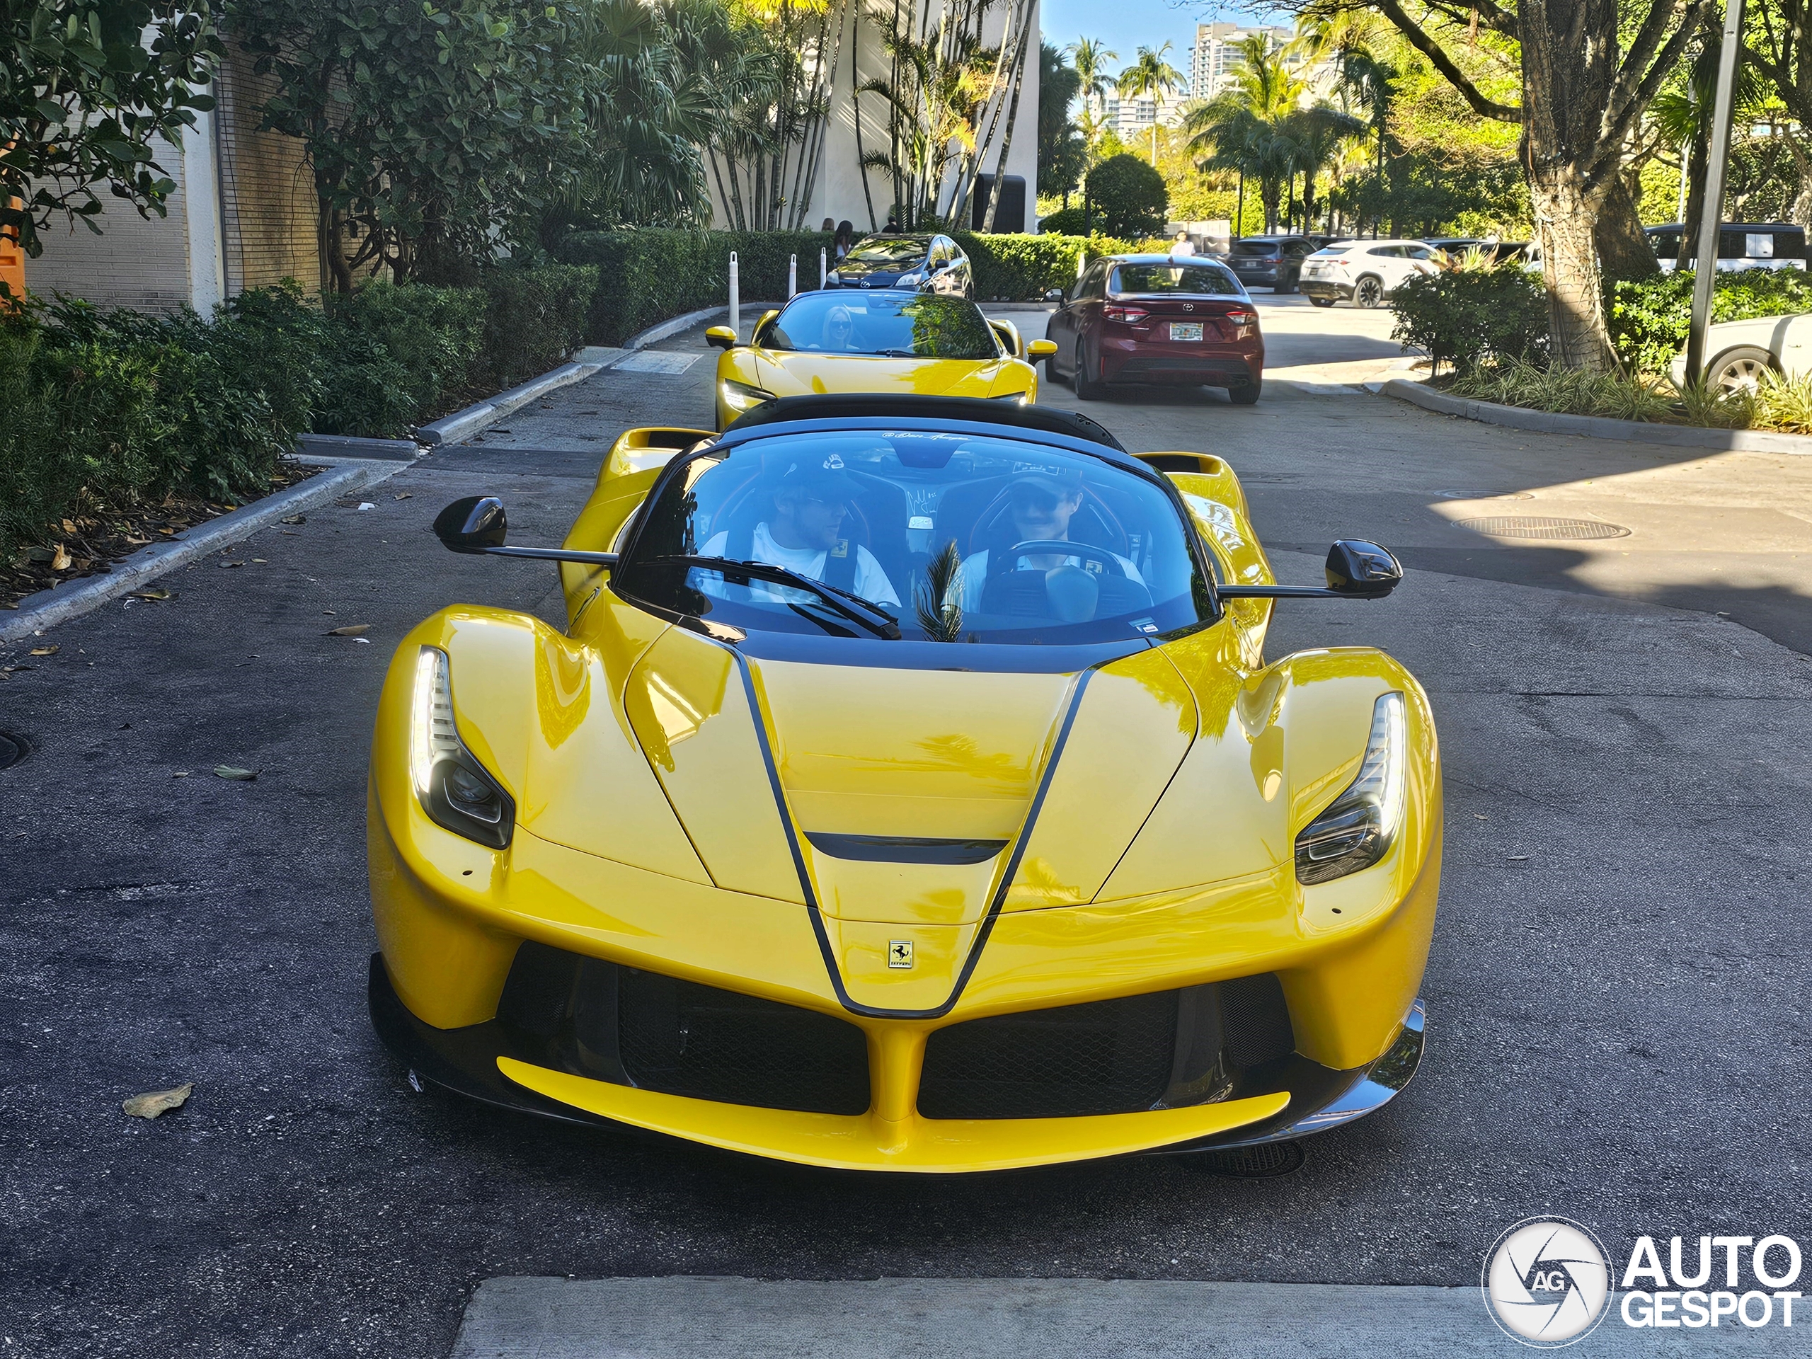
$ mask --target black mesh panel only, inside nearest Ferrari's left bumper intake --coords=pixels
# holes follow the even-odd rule
[[[763,1109],[868,1109],[868,1040],[830,1015],[629,968],[618,1013],[623,1071],[645,1089]]]

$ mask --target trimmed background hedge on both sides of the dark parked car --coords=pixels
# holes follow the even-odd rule
[[[1047,288],[1076,277],[1076,255],[1136,248],[1111,236],[977,236],[955,237],[975,268],[980,301],[1029,303]],[[730,252],[737,255],[743,303],[774,303],[786,295],[786,261],[799,257],[799,288],[817,286],[817,252],[830,246],[823,232],[689,232],[647,228],[574,232],[556,254],[569,265],[593,265],[598,292],[591,306],[589,339],[622,344],[640,330],[687,312],[721,306],[730,295]]]

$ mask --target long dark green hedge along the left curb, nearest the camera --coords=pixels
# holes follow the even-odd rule
[[[498,268],[475,288],[371,283],[324,306],[292,281],[212,321],[65,299],[0,312],[0,553],[172,489],[259,495],[303,431],[404,435],[554,368],[583,339],[596,277]]]

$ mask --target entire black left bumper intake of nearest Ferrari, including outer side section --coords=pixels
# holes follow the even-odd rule
[[[496,1009],[522,1060],[763,1109],[861,1114],[868,1040],[815,1009],[527,942]]]

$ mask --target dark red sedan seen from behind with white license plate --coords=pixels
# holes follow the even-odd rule
[[[1094,400],[1118,382],[1227,388],[1234,406],[1258,400],[1265,337],[1232,270],[1212,259],[1111,255],[1053,290],[1046,371]]]

